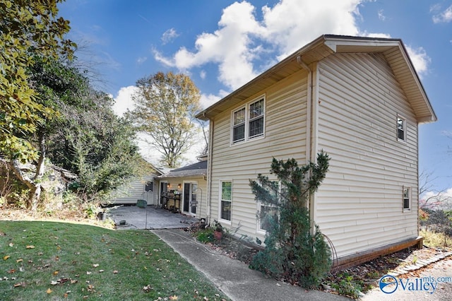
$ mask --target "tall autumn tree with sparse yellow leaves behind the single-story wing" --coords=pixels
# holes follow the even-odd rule
[[[194,115],[201,97],[189,76],[158,72],[136,82],[135,108],[127,116],[150,136],[148,143],[162,154],[161,162],[178,167],[182,155],[195,143]]]

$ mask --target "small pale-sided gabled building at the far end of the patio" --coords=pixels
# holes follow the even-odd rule
[[[116,189],[112,204],[137,204],[139,199],[145,200],[148,205],[157,204],[159,198],[155,178],[163,175],[163,172],[144,159],[142,167],[147,171],[145,175],[133,177]]]

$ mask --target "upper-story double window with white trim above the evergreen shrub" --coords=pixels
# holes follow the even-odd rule
[[[247,141],[264,134],[264,97],[232,112],[232,143]]]

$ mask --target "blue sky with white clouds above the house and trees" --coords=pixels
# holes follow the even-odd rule
[[[439,118],[420,126],[420,172],[452,197],[451,0],[67,0],[59,9],[119,114],[136,81],[157,71],[189,74],[206,107],[320,35],[401,38]]]

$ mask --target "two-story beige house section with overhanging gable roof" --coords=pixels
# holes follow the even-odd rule
[[[249,179],[323,150],[309,209],[336,266],[422,241],[418,125],[436,115],[400,39],[322,35],[196,117],[210,122],[209,221],[262,240]]]

